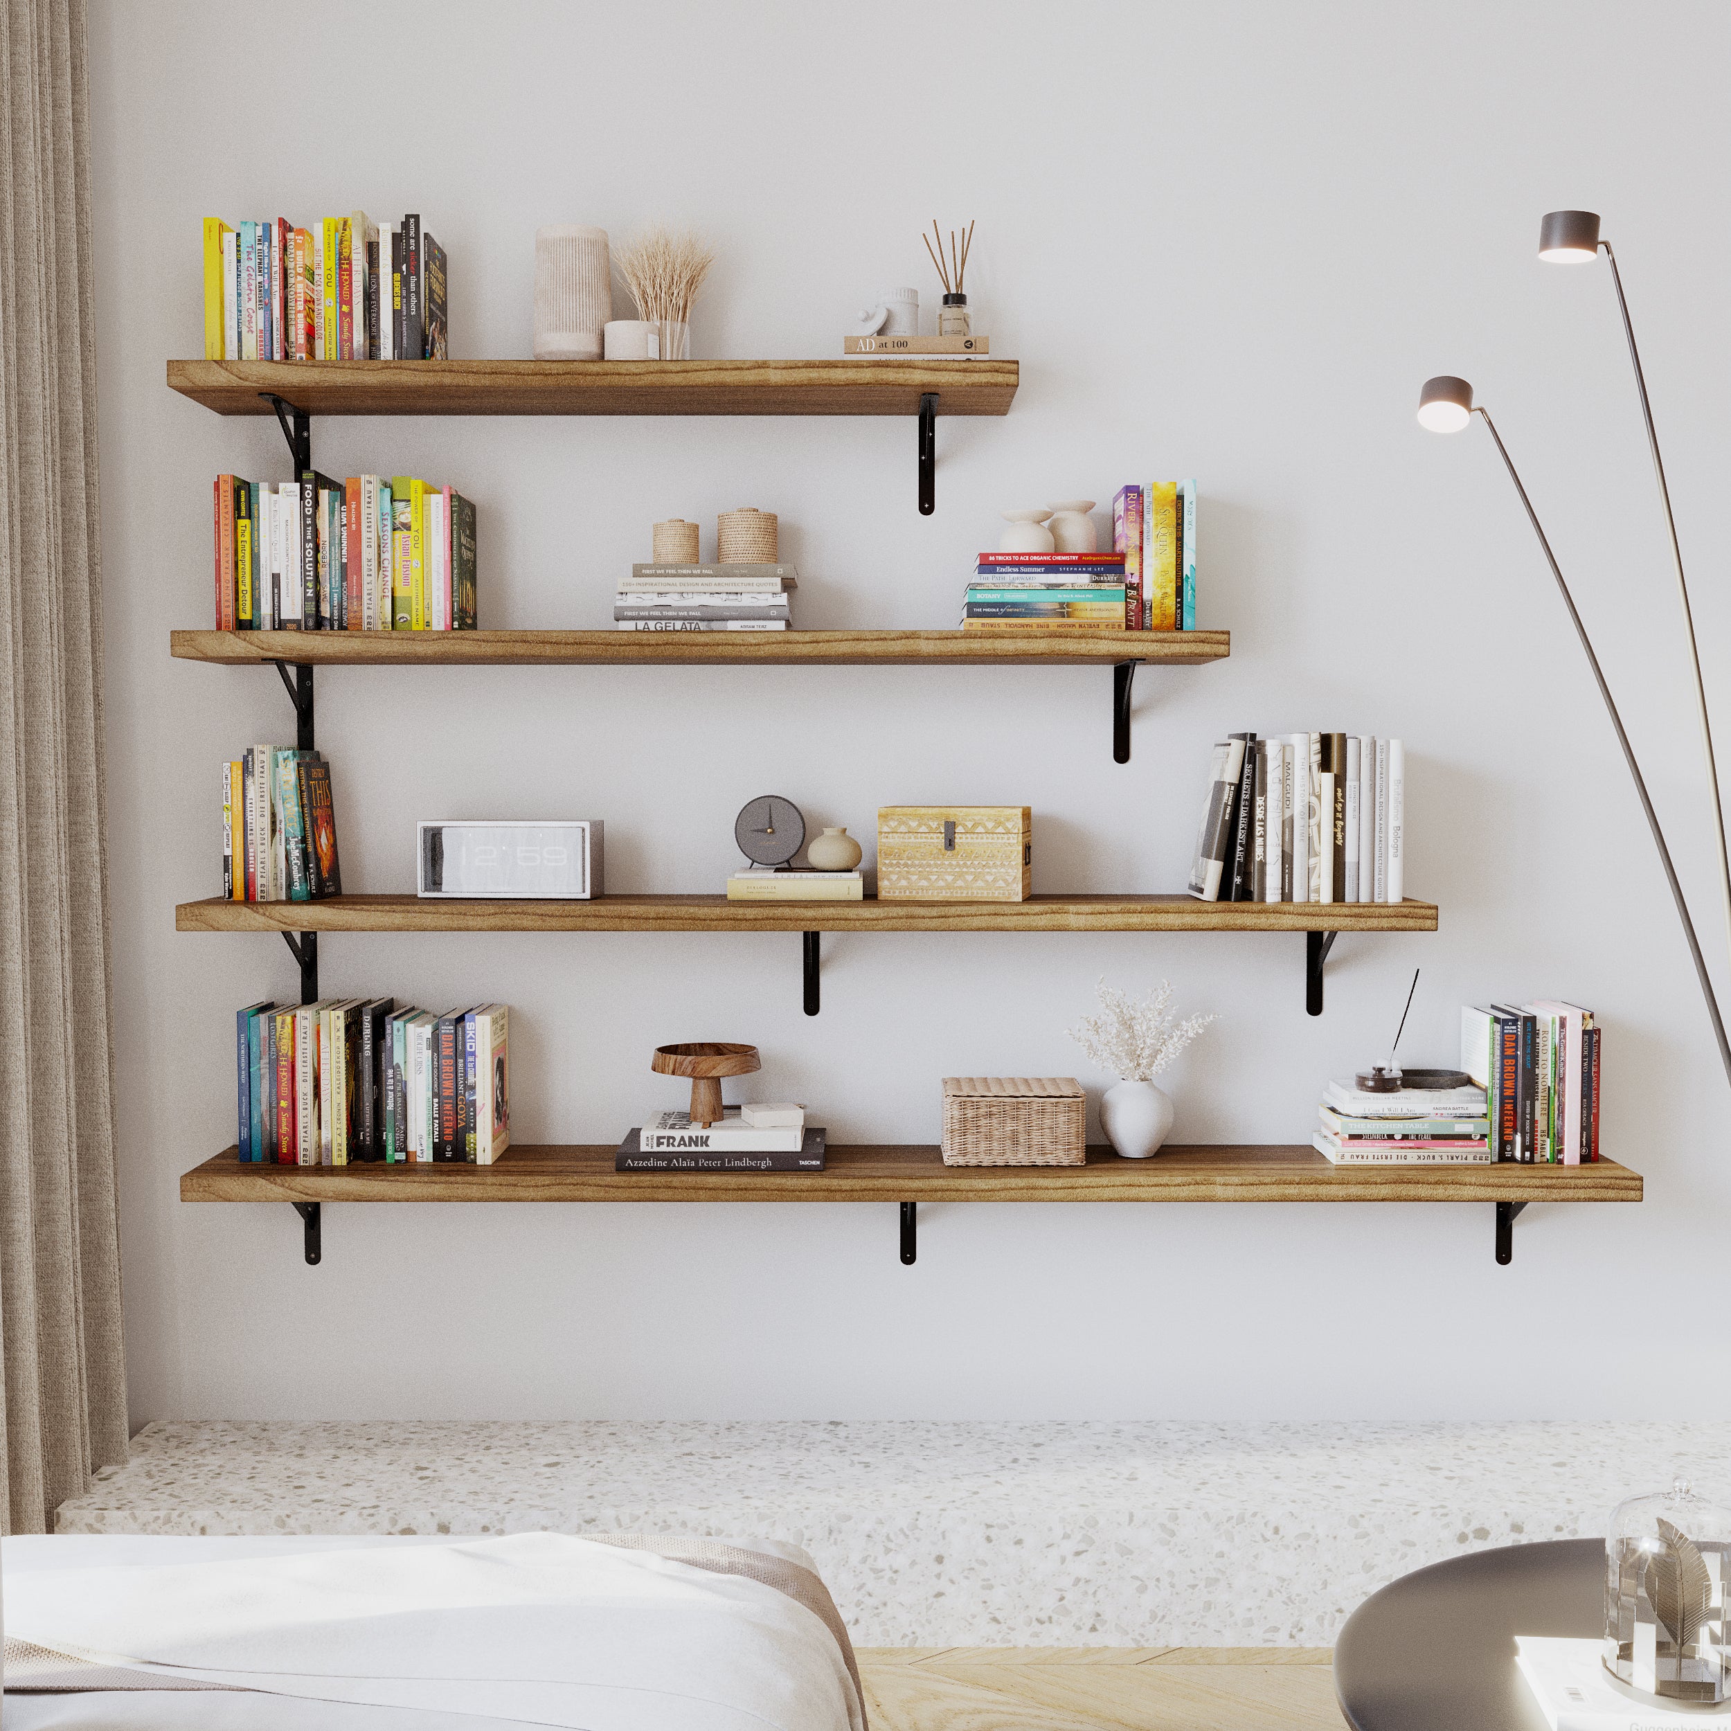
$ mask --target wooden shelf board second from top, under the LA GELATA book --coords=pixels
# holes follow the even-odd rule
[[[182,661],[254,666],[1115,666],[1224,661],[1231,632],[170,632]]]

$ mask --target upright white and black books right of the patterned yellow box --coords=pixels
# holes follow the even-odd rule
[[[1203,902],[1402,900],[1404,744],[1359,734],[1222,739],[1189,893]]]

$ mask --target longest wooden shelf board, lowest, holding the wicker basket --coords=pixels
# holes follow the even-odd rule
[[[180,1179],[182,1201],[1639,1201],[1641,1175],[1586,1167],[1335,1167],[1310,1148],[1167,1148],[1085,1167],[947,1167],[933,1146],[831,1148],[824,1172],[615,1172],[611,1146],[512,1148],[492,1167],[241,1165]]]

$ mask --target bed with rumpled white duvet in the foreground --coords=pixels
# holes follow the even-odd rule
[[[0,1563],[5,1731],[866,1731],[788,1544],[26,1535]]]

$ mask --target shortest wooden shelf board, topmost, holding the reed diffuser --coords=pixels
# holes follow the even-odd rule
[[[171,360],[168,386],[222,415],[1004,415],[1013,360]]]

